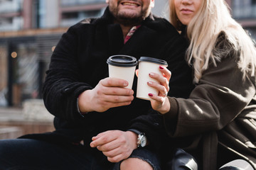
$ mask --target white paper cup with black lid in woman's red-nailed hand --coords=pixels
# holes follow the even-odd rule
[[[159,94],[159,91],[149,86],[147,82],[154,81],[155,79],[149,77],[149,73],[153,72],[156,74],[161,74],[159,66],[167,67],[168,64],[164,60],[159,60],[152,57],[140,57],[139,58],[139,74],[137,82],[137,98],[142,98],[144,100],[152,100],[149,94]],[[159,83],[159,82],[158,82]]]

